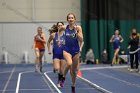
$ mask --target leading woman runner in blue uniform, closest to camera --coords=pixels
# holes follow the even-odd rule
[[[75,83],[78,70],[78,62],[80,51],[83,44],[82,28],[76,25],[76,16],[73,13],[67,15],[68,25],[65,28],[65,44],[63,46],[63,56],[66,60],[66,68],[64,71],[63,80],[61,86],[63,87],[65,76],[70,69],[72,78],[72,93],[75,93]]]

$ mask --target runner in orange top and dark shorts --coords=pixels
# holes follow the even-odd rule
[[[42,57],[45,52],[46,37],[42,31],[42,27],[37,28],[37,34],[34,36],[33,48],[35,49],[36,65],[35,71],[42,72]]]

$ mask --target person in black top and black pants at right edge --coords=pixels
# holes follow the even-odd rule
[[[138,72],[138,51],[136,51],[138,49],[138,44],[139,44],[139,36],[137,35],[137,30],[135,28],[132,29],[131,31],[131,36],[129,38],[129,46],[128,49],[130,49],[130,71],[133,71],[134,69],[134,61],[136,64],[136,71]],[[135,59],[135,60],[134,60]]]

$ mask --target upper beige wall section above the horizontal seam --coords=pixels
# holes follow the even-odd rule
[[[66,21],[69,12],[80,21],[80,0],[0,0],[0,22]]]

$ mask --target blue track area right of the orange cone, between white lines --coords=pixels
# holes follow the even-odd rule
[[[139,93],[140,76],[114,69],[82,71],[83,77],[112,93]]]

